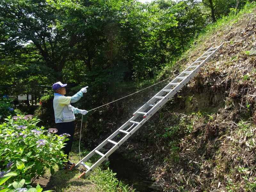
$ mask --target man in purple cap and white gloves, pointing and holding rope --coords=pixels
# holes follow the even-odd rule
[[[70,162],[69,152],[71,151],[72,144],[73,144],[73,136],[75,132],[75,123],[74,120],[76,119],[75,114],[81,113],[85,115],[88,113],[86,110],[81,110],[75,108],[70,105],[70,103],[75,103],[76,101],[80,100],[83,97],[83,93],[86,93],[87,87],[82,88],[79,92],[77,92],[72,97],[64,96],[66,94],[67,84],[62,84],[61,82],[57,82],[52,85],[52,89],[54,91],[54,99],[53,99],[53,108],[54,108],[54,116],[55,116],[55,123],[58,129],[58,135],[62,135],[64,133],[69,134],[68,141],[65,143],[65,147],[62,148],[64,150],[64,154],[67,155],[68,165],[73,165],[73,162]],[[63,165],[64,168],[64,165]]]

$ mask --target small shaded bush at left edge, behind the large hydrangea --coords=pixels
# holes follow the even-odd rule
[[[10,99],[3,99],[0,100],[0,122],[4,122],[4,119],[7,116],[14,116],[15,111],[12,108],[12,100]]]

